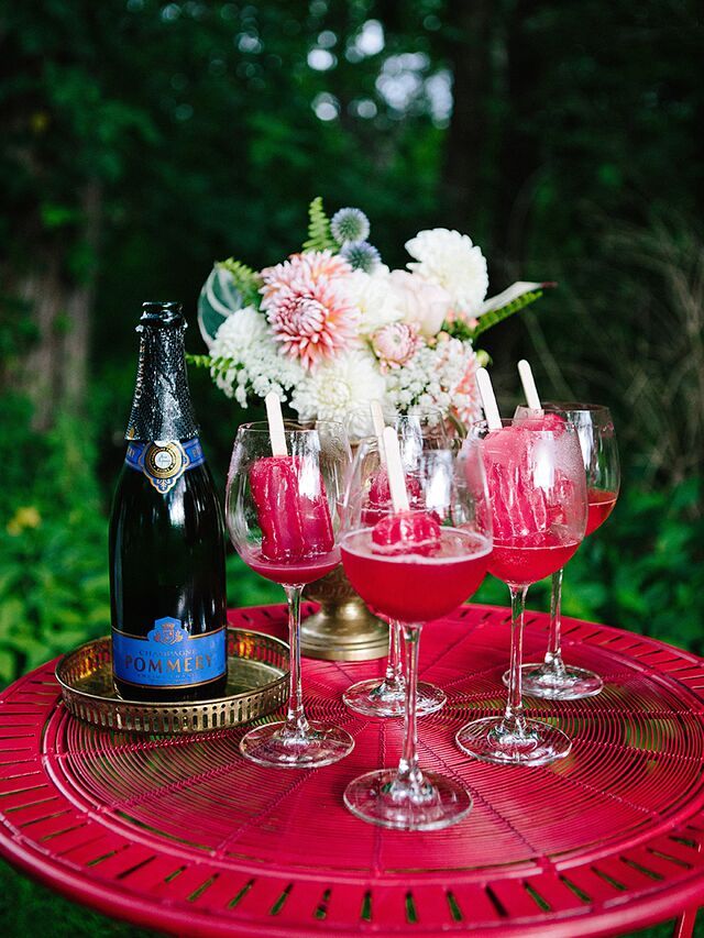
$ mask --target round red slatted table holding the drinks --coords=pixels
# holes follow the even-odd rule
[[[182,935],[573,938],[695,909],[704,662],[565,619],[569,661],[606,687],[586,700],[528,704],[572,737],[572,753],[541,769],[483,764],[455,748],[454,733],[502,707],[507,615],[464,606],[424,631],[421,673],[449,702],[420,721],[422,764],[474,795],[454,827],[389,831],[342,806],[350,779],[398,759],[400,721],[363,719],[340,699],[383,662],[305,661],[309,716],[356,742],[316,772],[245,762],[243,730],[169,739],[84,725],[64,709],[51,662],[0,699],[0,852],[73,900]],[[280,606],[230,618],[285,629]],[[546,636],[547,617],[528,614],[526,660]]]

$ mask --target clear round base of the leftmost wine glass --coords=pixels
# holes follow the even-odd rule
[[[258,726],[240,740],[245,759],[277,769],[319,769],[344,759],[353,749],[349,732],[315,721],[306,735],[293,733],[285,722],[276,722]]]

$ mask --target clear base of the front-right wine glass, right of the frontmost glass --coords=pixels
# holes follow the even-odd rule
[[[455,736],[463,752],[483,762],[503,765],[548,765],[564,759],[572,740],[557,727],[540,720],[524,720],[525,732],[513,732],[499,717],[465,724]]]

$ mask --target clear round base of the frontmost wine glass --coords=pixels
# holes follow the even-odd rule
[[[438,830],[462,820],[472,809],[470,793],[444,775],[424,773],[418,798],[395,781],[396,769],[360,775],[344,790],[344,804],[362,820],[396,830]]]

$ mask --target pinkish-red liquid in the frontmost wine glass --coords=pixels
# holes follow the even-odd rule
[[[342,543],[342,563],[367,606],[400,622],[427,622],[457,609],[486,573],[490,542],[468,531],[442,528],[431,556],[388,554],[372,541],[372,530],[354,531]]]

